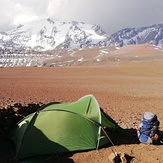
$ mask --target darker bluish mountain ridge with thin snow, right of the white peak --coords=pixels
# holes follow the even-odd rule
[[[117,44],[120,47],[129,44],[152,44],[163,47],[163,24],[122,29],[112,34],[106,44]]]

